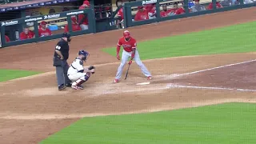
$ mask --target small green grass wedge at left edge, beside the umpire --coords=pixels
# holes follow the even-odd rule
[[[34,74],[39,74],[39,72],[28,71],[28,70],[6,70],[0,69],[0,82],[8,81],[15,78],[22,78]]]

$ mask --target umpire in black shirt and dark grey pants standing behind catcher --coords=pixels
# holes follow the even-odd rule
[[[71,86],[70,79],[67,77],[69,64],[66,62],[66,60],[69,58],[70,41],[70,34],[63,33],[61,40],[55,46],[54,66],[56,67],[58,90],[64,90],[66,89],[66,86]]]

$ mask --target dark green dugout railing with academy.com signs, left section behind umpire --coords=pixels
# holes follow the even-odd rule
[[[88,30],[80,30],[80,31],[72,31],[71,27],[71,16],[78,15],[78,14],[87,14],[88,22],[89,22],[89,29]],[[72,36],[74,35],[81,35],[81,34],[90,34],[95,32],[95,18],[92,10],[86,9],[86,10],[70,10],[62,13],[56,13],[56,14],[47,14],[42,16],[34,16],[30,18],[19,18],[19,19],[13,19],[6,22],[1,22],[1,42],[2,47],[6,46],[15,46],[15,45],[21,45],[25,43],[31,43],[31,42],[42,42],[46,40],[51,40],[55,38],[61,38],[62,33],[64,30],[59,32],[58,34],[53,34],[46,37],[39,37],[38,36],[38,26],[39,23],[42,21],[48,21],[50,19],[55,18],[66,18],[67,24],[69,27],[69,32]],[[13,25],[19,25],[22,29],[22,27],[29,27],[27,26],[28,23],[32,23],[33,26],[30,26],[30,30],[34,30],[34,38],[26,39],[26,40],[16,40],[12,42],[6,42],[5,34],[6,34],[6,26],[13,26]],[[31,28],[33,27],[33,28]],[[22,30],[20,30],[22,32]]]

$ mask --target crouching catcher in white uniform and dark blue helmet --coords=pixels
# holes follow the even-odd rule
[[[88,81],[90,74],[94,74],[94,66],[84,67],[83,62],[89,58],[89,53],[85,50],[78,52],[78,57],[74,59],[74,62],[70,65],[67,71],[67,76],[72,81],[72,88],[74,90],[83,90],[82,83]]]

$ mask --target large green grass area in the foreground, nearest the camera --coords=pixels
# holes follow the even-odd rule
[[[82,118],[41,144],[255,143],[256,105],[214,106]]]

